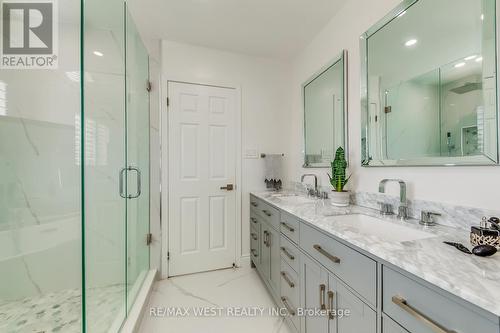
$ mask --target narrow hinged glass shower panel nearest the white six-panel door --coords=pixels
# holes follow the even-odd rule
[[[149,270],[149,57],[128,10],[127,91],[127,309]]]

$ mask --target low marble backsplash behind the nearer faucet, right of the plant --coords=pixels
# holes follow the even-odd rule
[[[397,211],[399,197],[368,192],[353,192],[351,194],[351,202],[362,207],[379,209],[380,205],[378,203],[381,201],[392,204],[394,211]],[[441,214],[441,216],[436,218],[439,224],[465,230],[470,230],[472,225],[479,225],[483,216],[500,216],[500,211],[456,206],[425,200],[408,200],[408,208],[410,210],[410,216],[415,219],[420,219],[421,211],[431,211]]]

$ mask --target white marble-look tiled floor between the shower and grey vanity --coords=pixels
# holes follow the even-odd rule
[[[155,283],[139,333],[292,333],[280,317],[168,316],[166,308],[275,308],[257,272],[250,267],[186,275]],[[157,315],[152,315],[156,311]]]

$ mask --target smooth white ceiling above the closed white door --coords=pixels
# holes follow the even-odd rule
[[[254,56],[295,56],[347,0],[128,0],[147,39]]]

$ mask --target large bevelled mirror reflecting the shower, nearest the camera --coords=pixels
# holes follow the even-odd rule
[[[405,0],[361,36],[364,166],[498,163],[495,0]]]

